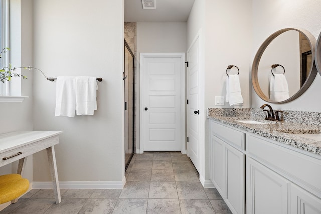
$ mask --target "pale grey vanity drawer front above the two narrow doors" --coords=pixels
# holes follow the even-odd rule
[[[245,150],[245,134],[243,132],[237,131],[233,128],[227,127],[211,120],[211,133],[219,137],[223,141],[228,142],[229,144],[239,149]]]

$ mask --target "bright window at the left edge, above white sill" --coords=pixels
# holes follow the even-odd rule
[[[0,0],[0,48],[9,47],[9,0]],[[9,65],[9,54],[3,53],[0,58],[1,68]],[[9,82],[0,82],[0,96],[9,96]]]

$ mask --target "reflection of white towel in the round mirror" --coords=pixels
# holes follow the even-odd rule
[[[289,99],[289,87],[284,74],[274,74],[271,77],[270,99],[275,102]]]

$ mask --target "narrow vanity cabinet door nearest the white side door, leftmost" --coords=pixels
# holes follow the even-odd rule
[[[221,196],[225,197],[225,175],[224,175],[224,141],[212,135],[213,144],[213,184]]]

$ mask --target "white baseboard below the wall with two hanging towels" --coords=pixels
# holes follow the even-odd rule
[[[68,181],[59,182],[60,189],[122,189],[126,183],[123,181]],[[52,182],[33,182],[33,189],[52,189]]]

